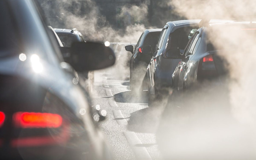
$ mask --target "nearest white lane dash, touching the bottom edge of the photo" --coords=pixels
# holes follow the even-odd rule
[[[127,142],[130,144],[130,147],[132,148],[136,159],[147,159],[151,160],[151,157],[149,155],[149,152],[147,151],[146,147],[138,147],[137,144],[142,144],[140,139],[137,137],[137,135],[134,132],[123,132],[125,138],[127,139]]]

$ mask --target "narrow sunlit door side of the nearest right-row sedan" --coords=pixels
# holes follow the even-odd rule
[[[195,48],[196,48],[196,44],[197,44],[197,41],[200,37],[200,30],[201,29],[198,29],[194,35],[192,36],[191,38],[191,41],[190,43],[188,44],[185,52],[184,52],[184,58],[182,59],[182,61],[180,62],[180,64],[177,66],[178,69],[180,70],[179,71],[179,77],[178,77],[178,90],[179,91],[183,91],[185,88],[186,88],[186,85],[185,85],[185,76],[186,76],[186,73],[187,71],[189,70],[188,67],[189,67],[189,60],[193,57],[193,53],[195,52]]]

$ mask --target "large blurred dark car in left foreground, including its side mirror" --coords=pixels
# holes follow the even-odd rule
[[[68,64],[37,1],[2,0],[0,12],[8,30],[0,38],[1,159],[113,159],[100,115],[70,72],[112,66],[113,50],[75,42]]]

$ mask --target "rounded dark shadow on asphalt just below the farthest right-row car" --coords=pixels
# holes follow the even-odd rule
[[[120,103],[148,103],[148,92],[133,93],[132,91],[125,91],[115,94],[115,100]]]

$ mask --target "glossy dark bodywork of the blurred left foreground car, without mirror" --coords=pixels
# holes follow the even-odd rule
[[[9,25],[9,31],[15,32],[15,34],[17,33],[16,36],[18,36],[19,38],[18,43],[15,43],[15,45],[12,44],[14,48],[9,48],[11,49],[10,53],[6,50],[1,50],[2,53],[9,53],[2,54],[0,56],[1,77],[18,77],[15,80],[25,79],[24,82],[28,84],[28,86],[29,84],[31,84],[31,86],[34,86],[35,84],[41,90],[47,91],[47,93],[54,95],[56,97],[56,101],[61,101],[63,103],[63,106],[58,105],[58,107],[61,108],[60,110],[59,108],[51,107],[54,112],[60,113],[66,111],[67,117],[74,118],[74,120],[76,120],[70,124],[72,124],[72,129],[78,129],[79,132],[76,132],[78,130],[68,130],[69,132],[67,132],[67,134],[72,137],[72,141],[68,141],[67,143],[65,143],[65,145],[56,144],[55,147],[58,147],[59,149],[61,148],[62,155],[58,155],[59,152],[57,152],[57,150],[54,155],[62,157],[66,152],[65,154],[68,156],[68,154],[70,153],[68,152],[69,149],[77,150],[79,148],[79,150],[82,150],[82,152],[90,153],[97,157],[97,159],[105,159],[106,157],[103,155],[103,151],[104,149],[106,149],[107,145],[102,133],[97,127],[97,123],[93,120],[93,110],[89,106],[89,97],[84,94],[83,88],[80,86],[80,84],[74,82],[75,77],[72,72],[67,71],[68,65],[63,62],[63,58],[61,56],[57,42],[53,34],[50,34],[51,31],[45,25],[46,23],[43,21],[43,18],[41,17],[42,15],[37,10],[38,8],[36,7],[35,2],[31,0],[3,0],[2,2],[8,4],[9,8],[6,8],[6,10],[11,13],[12,18],[12,21],[10,23],[6,23],[6,25]],[[15,22],[15,25],[13,24],[13,22]],[[13,28],[15,28],[16,30]],[[23,54],[23,58],[21,57],[21,54]],[[24,55],[26,56],[25,58]],[[14,81],[14,83],[12,83],[11,81],[11,83],[8,84],[9,86],[7,87],[12,86],[13,88],[15,88],[19,85],[19,81]],[[8,89],[4,85],[4,83],[1,83],[0,86]],[[10,87],[9,89],[11,89],[12,87]],[[20,93],[14,92],[13,94],[18,95]],[[37,93],[40,93],[40,91],[38,91]],[[15,103],[15,100],[7,101],[6,97],[8,96],[10,97],[15,95],[10,95],[8,94],[8,92],[2,93],[0,96],[1,102],[5,102],[9,105]],[[24,101],[26,101],[27,103],[31,103],[34,99],[36,99],[36,96],[38,95],[32,94],[30,96],[31,97],[26,97]],[[45,99],[45,101],[46,100],[47,98]],[[4,107],[2,106],[0,109],[3,108]],[[44,158],[44,156],[46,156],[46,154],[44,155],[46,151],[49,154],[53,151],[52,145],[33,147],[13,147],[11,145],[11,141],[9,140],[12,139],[13,135],[11,133],[12,130],[14,130],[11,123],[11,113],[19,112],[21,110],[24,111],[24,109],[26,109],[25,111],[27,112],[48,112],[47,110],[44,110],[45,108],[43,106],[33,105],[23,106],[22,104],[18,104],[18,106],[16,106],[15,108],[8,108],[9,112],[6,113],[6,117],[8,117],[7,120],[8,122],[10,122],[10,125],[7,126],[6,130],[3,130],[3,128],[1,128],[0,130],[1,138],[4,139],[4,141],[1,141],[3,143],[0,144],[0,153],[3,159],[18,158],[15,157],[16,155],[14,154],[14,152],[12,152],[13,150],[18,150],[17,154],[19,154],[19,156],[21,156],[22,158],[26,158],[27,156],[38,156],[38,158],[35,159]],[[85,111],[83,112],[83,114],[81,114],[80,112],[81,109]],[[34,130],[37,129],[35,128]],[[54,141],[55,139],[50,134],[50,129],[48,130],[48,128],[46,128],[46,130],[49,131],[49,136],[50,138],[52,138],[52,141]],[[9,134],[3,135],[2,132],[8,132]],[[19,130],[18,136],[21,136],[22,134],[29,136],[31,132],[33,131],[22,128]],[[40,134],[40,132],[36,133]],[[19,140],[22,140],[22,138],[19,137],[18,142]],[[25,141],[24,144],[27,145],[28,142]],[[90,146],[90,150],[88,150],[88,146]],[[42,153],[43,155],[36,155],[37,153]],[[80,154],[82,155],[81,152]],[[78,158],[80,155],[74,156],[77,156]]]

